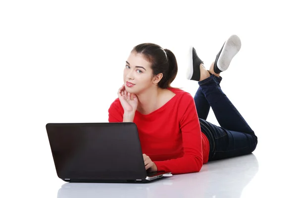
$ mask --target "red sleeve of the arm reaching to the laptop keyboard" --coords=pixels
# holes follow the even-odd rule
[[[187,93],[181,100],[185,110],[180,120],[183,138],[183,157],[165,161],[154,161],[158,171],[172,174],[199,172],[203,164],[201,129],[193,97]]]

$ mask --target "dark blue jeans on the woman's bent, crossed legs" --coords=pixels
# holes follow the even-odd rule
[[[194,97],[201,131],[209,140],[209,161],[249,154],[258,143],[255,133],[221,90],[221,80],[211,75],[199,81]],[[220,127],[206,121],[210,107]]]

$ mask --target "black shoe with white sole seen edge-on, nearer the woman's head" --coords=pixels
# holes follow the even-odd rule
[[[202,60],[198,57],[196,53],[196,49],[194,47],[190,48],[190,54],[191,54],[191,61],[188,66],[187,70],[187,79],[188,80],[200,80],[200,64],[203,63]]]

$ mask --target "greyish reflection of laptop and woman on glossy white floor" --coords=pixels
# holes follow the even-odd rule
[[[205,165],[200,173],[176,175],[150,184],[64,184],[57,198],[239,198],[256,197],[259,162],[251,154]],[[269,185],[268,185],[269,186]],[[263,194],[264,195],[264,194]]]

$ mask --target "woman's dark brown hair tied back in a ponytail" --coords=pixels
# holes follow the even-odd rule
[[[159,88],[171,88],[170,84],[177,75],[177,61],[172,51],[152,43],[139,44],[131,52],[133,51],[142,54],[151,64],[153,76],[159,73],[163,74],[158,83]]]

